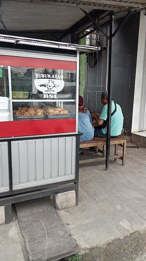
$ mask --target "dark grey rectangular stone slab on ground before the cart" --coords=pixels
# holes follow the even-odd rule
[[[46,260],[55,261],[78,252],[76,242],[47,197],[17,203],[15,208],[30,261],[44,260],[46,242]]]

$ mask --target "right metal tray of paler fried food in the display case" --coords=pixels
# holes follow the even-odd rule
[[[45,108],[44,113],[47,115],[48,118],[69,118],[70,113],[68,110],[64,110],[61,107],[55,108]]]

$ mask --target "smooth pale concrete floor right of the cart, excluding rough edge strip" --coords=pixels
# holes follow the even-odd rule
[[[144,148],[127,148],[125,166],[111,161],[108,172],[104,161],[80,165],[79,206],[58,213],[82,253],[146,227],[145,166]]]

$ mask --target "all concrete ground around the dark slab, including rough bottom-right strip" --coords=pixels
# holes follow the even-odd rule
[[[145,166],[146,149],[133,147],[126,149],[125,166],[111,161],[108,172],[104,161],[80,165],[79,206],[58,214],[82,260],[146,261]],[[0,261],[24,261],[15,219],[0,227],[0,235]]]

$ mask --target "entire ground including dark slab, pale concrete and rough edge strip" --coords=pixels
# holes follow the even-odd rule
[[[145,261],[145,170],[146,149],[127,148],[125,166],[111,161],[107,172],[104,161],[80,165],[78,207],[56,211],[48,198],[16,204],[30,259],[45,252],[42,220],[48,260],[77,251],[84,261]],[[15,220],[0,235],[0,261],[24,261]]]

